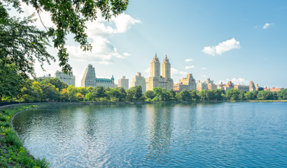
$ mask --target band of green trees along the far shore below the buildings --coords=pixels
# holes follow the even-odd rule
[[[0,88],[1,91],[1,88]],[[35,78],[8,86],[0,92],[5,102],[167,102],[167,101],[223,101],[223,100],[276,100],[287,99],[287,89],[279,92],[225,90],[165,90],[155,87],[142,94],[141,86],[125,90],[123,87],[73,87],[58,78]]]

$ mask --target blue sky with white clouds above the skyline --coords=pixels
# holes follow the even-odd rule
[[[131,0],[120,17],[87,24],[92,52],[81,52],[68,38],[70,64],[77,86],[87,64],[98,78],[127,76],[131,82],[137,72],[147,78],[157,53],[160,62],[169,58],[174,83],[193,73],[196,80],[215,83],[253,80],[260,86],[287,87],[286,16],[287,1]],[[56,56],[55,49],[49,50]],[[37,75],[60,68],[56,62],[45,69],[36,65]]]

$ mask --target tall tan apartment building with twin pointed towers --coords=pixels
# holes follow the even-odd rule
[[[174,80],[171,78],[171,65],[167,55],[162,62],[162,76],[160,76],[160,61],[156,54],[153,62],[151,62],[150,71],[150,77],[146,78],[146,90],[153,90],[153,87],[162,87],[165,90],[174,88]]]

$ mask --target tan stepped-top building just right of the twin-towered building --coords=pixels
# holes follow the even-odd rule
[[[181,78],[179,83],[174,84],[174,91],[181,92],[182,90],[197,90],[196,80],[192,73],[188,73],[186,78]]]

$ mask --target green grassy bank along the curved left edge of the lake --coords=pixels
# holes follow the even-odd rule
[[[18,105],[0,109],[0,167],[48,167],[45,159],[29,155],[11,126],[15,113],[35,107]]]

